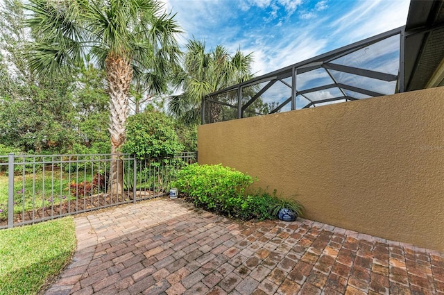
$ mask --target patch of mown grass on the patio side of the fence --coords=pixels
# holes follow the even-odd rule
[[[75,248],[72,217],[0,230],[0,294],[37,294]]]

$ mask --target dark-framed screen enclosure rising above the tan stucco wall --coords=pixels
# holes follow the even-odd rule
[[[204,104],[225,105],[219,107],[230,109],[222,116],[225,120],[394,94],[400,85],[403,30],[394,29],[214,92],[205,97]]]

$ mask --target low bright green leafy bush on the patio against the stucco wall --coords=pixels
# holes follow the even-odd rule
[[[259,189],[247,195],[246,188],[252,183],[253,178],[229,167],[193,164],[178,172],[173,185],[196,207],[243,220],[275,219],[287,205],[302,215],[302,205],[276,196],[276,190],[270,194]]]

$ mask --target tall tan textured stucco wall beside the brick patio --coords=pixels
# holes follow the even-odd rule
[[[308,219],[444,251],[444,87],[199,126],[198,152]]]

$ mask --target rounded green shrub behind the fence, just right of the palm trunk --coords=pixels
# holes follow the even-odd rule
[[[183,150],[173,121],[161,112],[142,112],[128,118],[123,153],[137,158],[167,158]]]

